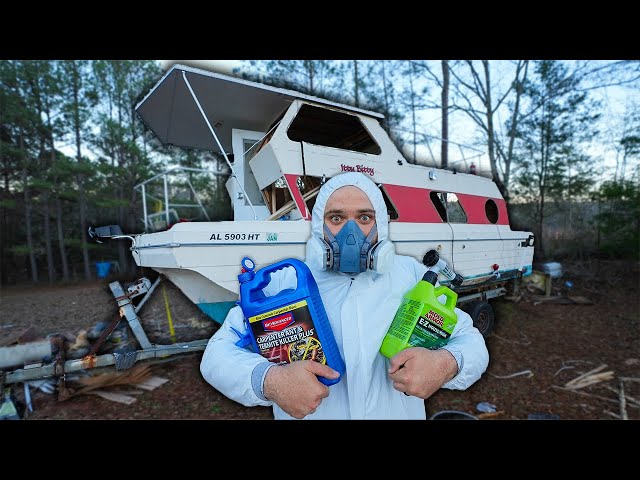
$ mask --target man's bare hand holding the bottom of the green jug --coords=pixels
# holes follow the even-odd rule
[[[272,369],[273,370],[273,369]],[[389,378],[393,388],[427,399],[458,373],[458,364],[447,350],[411,347],[391,358]]]

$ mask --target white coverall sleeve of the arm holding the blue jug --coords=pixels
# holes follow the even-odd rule
[[[258,364],[269,362],[259,353],[237,346],[240,337],[232,328],[241,334],[246,331],[239,306],[229,310],[224,323],[207,343],[200,373],[220,393],[246,407],[273,405],[273,402],[255,394],[251,382],[253,369]]]

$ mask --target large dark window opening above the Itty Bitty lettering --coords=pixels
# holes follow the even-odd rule
[[[302,105],[287,135],[294,142],[374,155],[381,151],[357,116],[312,105]]]

